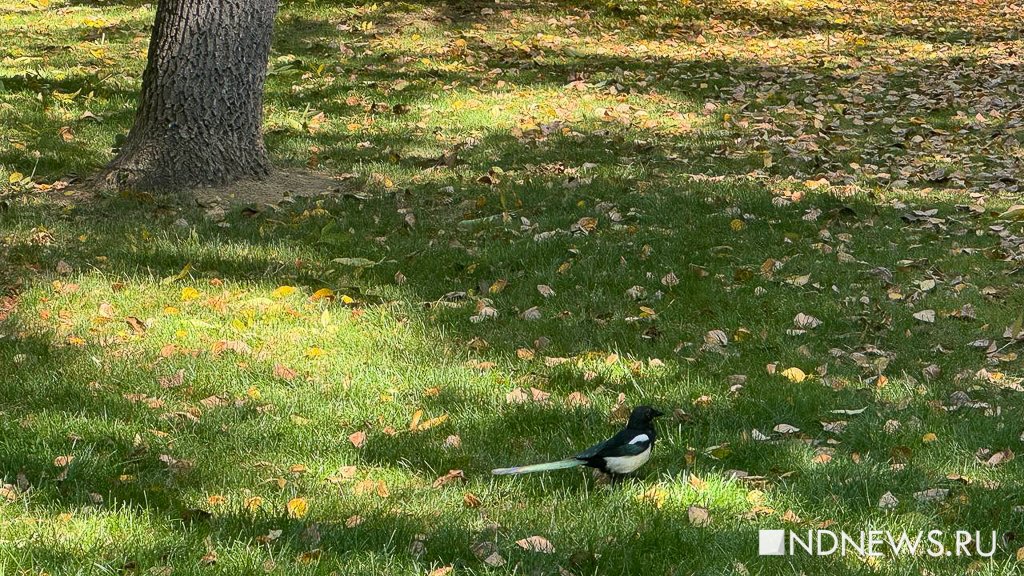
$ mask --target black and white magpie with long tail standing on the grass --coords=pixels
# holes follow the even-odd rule
[[[618,434],[600,444],[591,446],[571,458],[544,464],[496,468],[490,472],[494,475],[520,475],[577,466],[597,468],[613,478],[633,472],[650,459],[650,451],[654,448],[655,438],[652,421],[662,415],[662,412],[650,406],[637,406],[630,414],[630,421]]]

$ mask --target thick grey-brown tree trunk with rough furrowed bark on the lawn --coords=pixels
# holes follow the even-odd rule
[[[116,190],[176,191],[270,173],[263,84],[276,0],[159,0]]]

